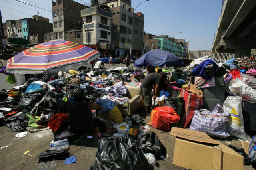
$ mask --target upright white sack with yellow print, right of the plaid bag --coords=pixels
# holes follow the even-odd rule
[[[236,136],[247,140],[244,131],[244,117],[242,114],[242,97],[228,96],[223,103],[224,112],[229,112],[229,120],[227,122],[228,132],[231,136]]]

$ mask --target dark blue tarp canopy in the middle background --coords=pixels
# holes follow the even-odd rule
[[[155,67],[171,67],[182,64],[183,59],[161,49],[152,49],[134,61],[136,67],[147,67],[148,65]]]

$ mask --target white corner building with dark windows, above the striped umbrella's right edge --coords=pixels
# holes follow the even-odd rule
[[[105,8],[105,9],[103,9]],[[107,6],[92,6],[81,10],[83,24],[83,44],[109,53],[113,49],[111,44],[112,12]]]

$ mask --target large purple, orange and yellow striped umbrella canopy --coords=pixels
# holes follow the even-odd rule
[[[43,74],[74,69],[100,56],[100,52],[78,43],[53,40],[22,51],[8,59],[6,72]]]

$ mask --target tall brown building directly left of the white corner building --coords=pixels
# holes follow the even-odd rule
[[[80,11],[85,8],[88,6],[73,0],[52,1],[53,33],[45,34],[44,41],[54,38],[55,40],[67,40],[81,44],[82,18]]]

